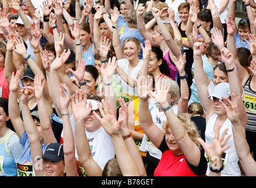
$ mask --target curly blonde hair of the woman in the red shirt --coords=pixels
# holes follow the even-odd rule
[[[182,123],[182,125],[184,126],[186,132],[188,133],[193,143],[195,143],[195,145],[200,148],[201,145],[197,140],[198,137],[200,136],[199,136],[199,132],[196,127],[196,124],[191,120],[191,118],[186,113],[178,114],[177,117]],[[168,127],[169,127],[169,124],[168,124],[168,121],[166,120],[165,122],[163,122],[163,130],[165,131],[165,133]]]

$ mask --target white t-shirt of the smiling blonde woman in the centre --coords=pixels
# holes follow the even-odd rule
[[[127,75],[131,76],[133,79],[136,79],[137,74],[140,72],[140,69],[142,68],[142,62],[143,60],[140,60],[138,65],[133,68],[132,70],[129,70],[129,61],[127,59],[119,59],[118,66],[120,69],[122,69]],[[134,100],[138,98],[137,93],[137,87],[135,86],[132,88],[129,86],[124,80],[119,76],[119,74],[113,75],[113,78],[120,83],[123,90],[123,99],[124,102],[128,102],[129,100]]]

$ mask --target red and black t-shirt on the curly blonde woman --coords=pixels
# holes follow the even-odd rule
[[[163,139],[159,150],[162,150],[163,154],[156,167],[154,176],[205,176],[207,162],[204,153],[201,152],[200,163],[198,167],[195,167],[188,163],[185,155],[173,155],[166,145],[165,139]]]

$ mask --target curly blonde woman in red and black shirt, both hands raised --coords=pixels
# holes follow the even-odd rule
[[[205,176],[207,162],[204,152],[199,148],[196,140],[199,137],[195,123],[188,115],[175,113],[170,108],[168,93],[170,85],[163,82],[161,86],[156,84],[156,92],[148,92],[152,80],[137,82],[140,93],[139,119],[140,127],[149,137],[152,143],[162,152],[162,157],[156,167],[154,176]],[[152,122],[148,108],[147,98],[150,95],[159,103],[165,112],[167,121],[163,124],[163,130]]]

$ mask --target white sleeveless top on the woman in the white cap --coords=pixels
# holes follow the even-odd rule
[[[216,113],[214,115],[212,115],[207,124],[206,124],[206,129],[205,129],[205,143],[207,145],[211,145],[212,144],[212,140],[214,140],[214,136],[215,136],[215,132],[214,132],[214,125],[216,122],[218,115],[216,115]],[[225,137],[228,135],[233,135],[232,132],[232,123],[231,121],[227,118],[224,122],[224,124],[221,126],[221,129],[219,130],[219,135],[222,134],[222,132],[224,132],[224,130],[228,128],[228,132],[226,133]],[[240,173],[240,168],[238,166],[238,156],[237,156],[237,151],[235,150],[235,143],[234,143],[234,139],[233,136],[231,136],[231,138],[228,140],[228,142],[226,143],[225,146],[227,145],[231,145],[231,147],[229,147],[229,149],[225,150],[224,153],[222,153],[221,156],[221,160],[224,164],[224,169],[221,171],[221,176],[241,176]],[[209,163],[210,160],[208,159],[208,157],[205,154],[205,157],[208,161],[208,169],[207,169],[207,175],[209,174]]]

